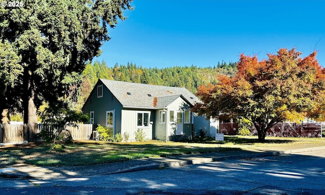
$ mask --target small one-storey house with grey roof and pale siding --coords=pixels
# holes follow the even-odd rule
[[[90,123],[110,128],[113,135],[127,132],[131,141],[137,129],[146,139],[173,141],[191,139],[193,121],[205,120],[194,120],[190,112],[199,101],[181,87],[99,79],[82,111],[90,114]]]

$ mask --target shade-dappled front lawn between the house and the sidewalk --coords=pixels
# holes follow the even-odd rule
[[[265,149],[295,146],[325,146],[325,139],[267,138],[258,143],[257,137],[225,136],[224,142],[203,139],[189,142],[129,142],[108,143],[80,141],[64,145],[63,152],[50,151],[50,146],[26,144],[0,147],[0,166],[30,164],[36,166],[83,166],[113,163],[137,158],[165,157],[181,154],[195,154],[240,149]]]

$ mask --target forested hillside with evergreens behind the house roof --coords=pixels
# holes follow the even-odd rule
[[[192,93],[197,92],[201,84],[215,83],[216,75],[233,76],[236,71],[236,62],[218,62],[216,67],[198,68],[191,67],[169,67],[169,68],[143,68],[134,63],[127,65],[115,64],[114,67],[107,67],[106,62],[95,61],[89,63],[83,71],[83,82],[80,89],[78,102],[73,105],[76,110],[80,110],[87,100],[89,93],[99,78],[145,83],[154,85],[165,85],[174,87],[185,87]]]

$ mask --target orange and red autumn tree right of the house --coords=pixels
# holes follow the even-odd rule
[[[234,77],[219,76],[217,84],[198,88],[202,103],[192,111],[207,117],[229,114],[248,119],[262,142],[277,122],[306,116],[324,120],[325,71],[315,58],[316,51],[305,58],[301,54],[280,49],[261,61],[241,54]]]

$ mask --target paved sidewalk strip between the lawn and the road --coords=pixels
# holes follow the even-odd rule
[[[109,175],[117,173],[134,172],[149,169],[163,169],[184,165],[209,163],[229,159],[263,157],[278,154],[299,153],[311,150],[324,150],[325,146],[306,148],[265,148],[250,150],[222,151],[202,154],[188,154],[167,156],[159,158],[144,158],[129,160],[122,163],[109,163],[102,165],[76,166],[76,167],[37,167],[26,164],[16,164],[0,167],[0,176],[11,178],[61,179],[73,177],[86,177]]]

